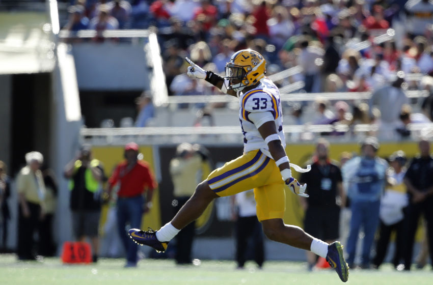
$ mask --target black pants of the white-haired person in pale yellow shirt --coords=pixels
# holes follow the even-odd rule
[[[17,254],[20,260],[33,260],[35,259],[34,247],[35,240],[34,234],[38,230],[39,218],[41,215],[41,207],[38,204],[27,202],[29,205],[30,216],[24,217],[22,215],[21,205],[19,205],[18,217],[18,248]]]

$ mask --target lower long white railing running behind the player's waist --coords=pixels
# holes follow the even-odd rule
[[[335,125],[285,125],[284,131],[287,140],[311,141],[320,135],[326,134],[333,141],[358,141],[371,132],[380,136],[380,126],[373,124],[358,124],[347,126]],[[409,124],[407,129],[415,132],[417,136],[431,137],[433,123]],[[301,138],[300,134],[309,134]],[[126,141],[134,140],[145,144],[174,144],[183,141],[204,144],[241,144],[241,132],[238,126],[218,127],[146,127],[146,128],[83,128],[80,130],[83,142],[102,145],[121,145]],[[413,139],[414,137],[408,137]],[[402,139],[403,140],[403,139]]]

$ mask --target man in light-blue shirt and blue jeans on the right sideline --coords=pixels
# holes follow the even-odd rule
[[[361,268],[370,267],[370,248],[379,222],[381,195],[386,182],[388,163],[376,156],[379,143],[375,137],[367,137],[361,144],[361,156],[355,157],[342,168],[343,186],[350,198],[349,238],[347,239],[347,263],[354,266],[356,244],[361,227],[364,229]]]

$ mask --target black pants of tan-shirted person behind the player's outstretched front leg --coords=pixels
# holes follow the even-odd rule
[[[175,207],[176,213],[188,201],[190,197],[176,197],[178,201]],[[192,222],[185,226],[176,236],[176,255],[175,260],[177,264],[190,264],[191,251],[193,248],[193,241],[196,232],[196,222]]]

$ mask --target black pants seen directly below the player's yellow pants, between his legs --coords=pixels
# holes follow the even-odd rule
[[[248,241],[251,239],[254,249],[254,261],[259,267],[264,262],[262,225],[256,216],[239,217],[236,221],[236,261],[243,267],[247,261]]]

